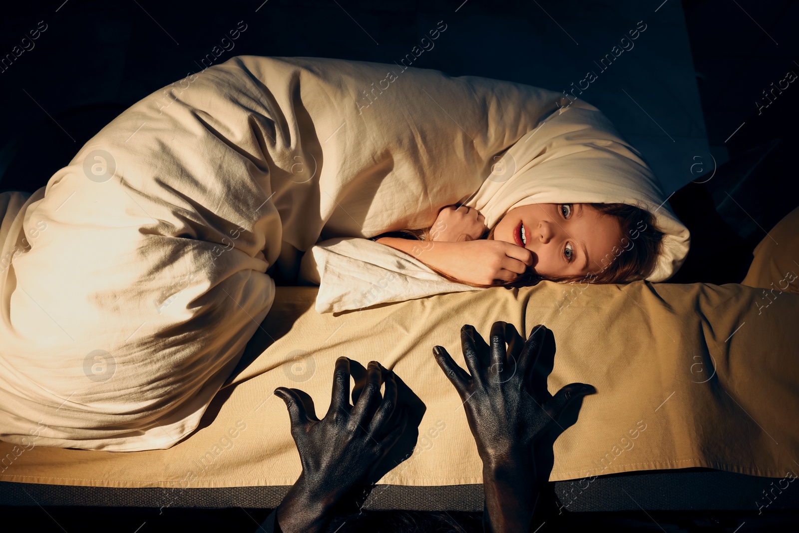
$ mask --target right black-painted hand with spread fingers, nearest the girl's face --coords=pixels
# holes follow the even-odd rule
[[[455,364],[443,347],[436,346],[433,352],[463,400],[483,459],[484,527],[495,532],[528,531],[539,498],[534,444],[572,402],[595,390],[573,383],[555,396],[546,390],[535,392],[535,362],[542,353],[554,356],[555,352],[552,332],[543,325],[523,341],[512,324],[497,321],[491,326],[489,347],[467,324],[460,340],[469,372]]]

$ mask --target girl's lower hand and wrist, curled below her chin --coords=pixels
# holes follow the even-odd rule
[[[429,243],[419,261],[458,280],[491,285],[495,280],[512,281],[533,265],[533,253],[505,241]]]

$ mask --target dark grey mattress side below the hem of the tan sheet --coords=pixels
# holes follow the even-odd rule
[[[555,495],[566,511],[799,509],[799,493],[784,491],[788,480],[699,469],[606,475],[582,490],[574,481],[556,481]],[[762,495],[780,495],[769,504]],[[0,482],[0,505],[98,507],[244,507],[274,508],[285,486],[186,488],[80,487]],[[634,495],[634,499],[630,496]],[[760,496],[759,499],[757,496]],[[753,499],[754,496],[754,499]],[[382,485],[364,502],[366,510],[483,511],[483,485]]]

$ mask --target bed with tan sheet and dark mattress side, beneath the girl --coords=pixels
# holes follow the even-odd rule
[[[461,324],[484,333],[506,320],[520,332],[543,323],[555,333],[551,392],[574,380],[597,388],[555,441],[551,480],[568,510],[799,508],[795,491],[782,490],[799,466],[799,284],[781,273],[796,270],[797,228],[799,209],[757,247],[746,285],[639,281],[570,293],[574,285],[545,282],[336,314],[312,310],[316,288],[279,287],[278,312],[260,324],[196,433],[129,453],[2,443],[0,502],[274,507],[300,463],[272,390],[300,388],[324,406],[333,361],[346,355],[394,368],[426,406],[410,459],[366,507],[479,511],[474,441],[429,348],[443,344],[460,360]],[[775,275],[785,292],[771,290]],[[781,497],[761,498],[765,491]]]

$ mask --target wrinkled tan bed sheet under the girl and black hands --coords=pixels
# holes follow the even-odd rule
[[[0,457],[14,458],[0,464],[0,479],[166,487],[163,503],[173,505],[185,501],[186,487],[291,485],[300,458],[286,407],[272,391],[298,388],[324,414],[336,358],[344,355],[364,365],[380,361],[425,405],[418,428],[407,432],[413,454],[380,483],[481,483],[463,400],[432,348],[447,348],[467,368],[460,328],[472,324],[487,339],[495,320],[513,324],[523,338],[536,324],[552,330],[555,359],[541,361],[542,372],[552,367],[549,392],[574,382],[597,390],[582,401],[574,425],[561,421],[566,431],[555,440],[550,479],[588,476],[559,495],[563,505],[594,490],[594,475],[688,467],[775,478],[797,472],[796,294],[780,292],[759,309],[757,302],[768,301],[763,289],[740,284],[543,281],[320,314],[313,309],[317,290],[276,289],[246,364],[188,439],[134,454],[38,447],[34,437],[17,451],[0,443]]]

